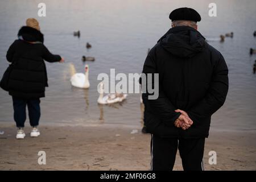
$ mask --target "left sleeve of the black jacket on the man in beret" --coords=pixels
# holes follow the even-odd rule
[[[142,73],[146,74],[146,77],[148,73],[152,73],[153,78],[154,78],[154,73],[157,73],[156,57],[155,57],[154,49],[150,51],[150,53],[148,54],[145,60]],[[152,78],[152,85],[154,85],[153,78]],[[148,85],[148,81],[146,81],[146,86],[147,85]],[[149,100],[148,96],[150,94],[147,92],[147,93],[143,93],[143,100],[147,99],[147,103],[148,103],[147,109],[151,113],[158,115],[161,122],[164,122],[167,126],[174,126],[174,122],[177,118],[179,118],[180,113],[175,112],[176,108],[174,107],[174,105],[172,105],[170,100],[168,100],[168,98],[164,94],[159,81],[158,81],[158,86],[159,86],[158,98],[156,98],[155,100]]]

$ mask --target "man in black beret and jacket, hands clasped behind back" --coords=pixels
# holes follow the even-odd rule
[[[184,170],[203,170],[210,118],[228,93],[228,68],[197,31],[201,17],[195,10],[176,9],[170,19],[172,28],[143,66],[143,73],[159,74],[159,97],[150,100],[143,93],[144,121],[152,134],[151,169],[171,170],[179,148]]]

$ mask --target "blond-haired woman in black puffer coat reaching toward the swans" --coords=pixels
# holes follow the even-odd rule
[[[11,44],[6,58],[13,64],[9,78],[9,94],[13,97],[14,120],[18,127],[17,139],[25,137],[23,127],[26,120],[26,105],[32,131],[31,137],[40,135],[37,126],[40,118],[40,98],[44,97],[47,84],[46,64],[63,62],[44,46],[43,34],[34,18],[27,19],[27,26],[20,28],[18,40]]]

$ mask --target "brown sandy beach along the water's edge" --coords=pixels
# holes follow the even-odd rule
[[[1,170],[148,170],[150,135],[129,126],[42,125],[41,135],[15,139],[14,125],[1,124]],[[256,134],[212,132],[205,144],[206,170],[255,170]],[[217,164],[210,165],[209,151],[217,152]],[[46,152],[46,165],[38,164],[38,152]],[[180,156],[174,170],[182,170]]]

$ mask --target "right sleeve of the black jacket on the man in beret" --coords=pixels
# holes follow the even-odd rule
[[[187,111],[193,121],[199,121],[200,118],[208,118],[215,113],[224,104],[228,94],[229,79],[228,67],[224,57],[216,61],[213,67],[212,81],[208,93],[197,105]]]

